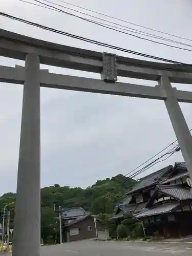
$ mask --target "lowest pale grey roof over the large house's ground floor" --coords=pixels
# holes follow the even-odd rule
[[[134,215],[134,217],[135,218],[143,218],[143,217],[147,217],[147,216],[165,214],[167,212],[172,211],[179,205],[180,205],[180,203],[176,203],[176,202],[158,205],[151,209],[146,209],[146,210],[140,212],[139,214]]]

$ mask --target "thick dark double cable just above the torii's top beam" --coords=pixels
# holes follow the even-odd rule
[[[23,19],[23,18],[18,18],[18,17],[12,16],[12,15],[9,15],[9,14],[4,13],[4,12],[0,12],[0,15],[4,16],[4,17],[7,17],[7,18],[17,20],[19,22],[23,22],[23,23],[31,25],[31,26],[35,26],[35,27],[38,27],[38,28],[41,28],[41,29],[45,29],[45,30],[54,32],[54,33],[57,33],[57,34],[66,35],[66,36],[69,36],[69,37],[72,37],[72,38],[75,38],[75,39],[78,39],[78,40],[90,42],[90,43],[95,44],[95,45],[108,47],[108,48],[111,48],[111,49],[115,49],[115,50],[126,52],[126,53],[131,53],[131,54],[135,54],[135,55],[139,55],[139,56],[146,57],[146,58],[152,58],[152,59],[157,59],[157,60],[170,62],[170,63],[174,63],[174,64],[191,66],[191,65],[183,63],[183,62],[179,62],[179,61],[175,61],[175,60],[169,60],[169,59],[165,59],[165,58],[161,58],[161,57],[156,57],[156,56],[153,56],[153,55],[148,55],[148,54],[144,54],[144,53],[140,53],[140,52],[136,52],[136,51],[132,51],[132,50],[127,50],[127,49],[124,49],[124,48],[121,48],[121,47],[113,46],[113,45],[110,45],[110,44],[105,44],[105,43],[97,41],[97,40],[93,40],[93,39],[89,39],[89,38],[86,38],[86,37],[77,36],[77,35],[74,35],[74,34],[71,34],[71,33],[63,32],[63,31],[60,31],[60,30],[57,30],[57,29],[53,29],[53,28],[50,28],[50,27],[47,27],[47,26],[40,25],[38,23],[30,22],[29,20],[26,20],[26,19]]]

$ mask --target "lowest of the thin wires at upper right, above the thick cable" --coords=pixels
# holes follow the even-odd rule
[[[80,18],[80,19],[82,19],[82,20],[86,20],[87,22],[90,22],[90,23],[99,25],[99,26],[101,26],[101,27],[103,27],[103,28],[108,28],[108,29],[111,29],[111,30],[113,30],[113,31],[116,31],[116,32],[119,32],[119,33],[122,33],[122,34],[130,35],[130,36],[134,36],[134,37],[136,37],[136,38],[142,39],[142,40],[154,42],[155,44],[164,45],[164,46],[176,48],[176,49],[179,49],[179,50],[184,50],[184,51],[192,52],[192,50],[189,50],[189,49],[186,49],[186,48],[181,48],[181,47],[177,47],[177,46],[168,45],[168,44],[165,44],[164,42],[158,42],[158,41],[154,41],[154,40],[152,40],[152,39],[148,39],[148,38],[144,38],[144,37],[141,37],[141,36],[138,36],[138,35],[133,35],[133,34],[131,34],[131,33],[126,33],[126,32],[120,31],[120,30],[118,30],[118,29],[109,27],[108,24],[104,24],[104,23],[100,23],[100,22],[98,23],[98,22],[96,22],[96,21],[94,21],[94,20],[91,20],[91,19],[88,19],[88,18],[84,18],[84,17],[78,16],[78,15],[73,14],[73,13],[70,13],[70,12],[63,11],[63,10],[57,8],[57,7],[52,6],[52,5],[45,4],[45,3],[43,3],[43,2],[41,2],[41,1],[39,1],[39,0],[33,0],[33,1],[35,1],[35,2],[37,2],[37,3],[40,3],[40,4],[42,4],[42,5],[45,5],[45,6],[54,8],[54,9],[56,9],[56,10],[59,10],[59,11],[65,13],[65,14],[68,14],[68,15],[71,15],[71,16],[74,16],[74,17],[77,17],[77,18]],[[42,1],[46,1],[46,2],[51,3],[51,2],[48,1],[48,0],[42,0]]]

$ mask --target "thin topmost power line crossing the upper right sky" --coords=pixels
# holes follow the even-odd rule
[[[82,10],[86,10],[86,11],[90,11],[90,12],[99,14],[99,15],[102,15],[102,16],[105,16],[105,17],[108,17],[108,18],[116,19],[116,20],[119,20],[120,22],[124,22],[124,23],[127,23],[127,24],[131,24],[131,25],[134,25],[134,26],[137,26],[137,27],[140,27],[140,28],[144,28],[144,29],[148,29],[148,30],[151,30],[151,31],[154,31],[154,32],[158,32],[158,33],[165,34],[165,35],[174,36],[174,37],[177,37],[177,38],[180,38],[180,39],[192,41],[192,39],[188,39],[188,38],[185,38],[185,37],[173,35],[173,34],[166,33],[166,32],[160,31],[160,30],[148,28],[148,27],[145,27],[145,26],[142,26],[142,25],[138,25],[138,24],[133,23],[133,22],[127,22],[127,20],[120,19],[120,18],[116,18],[116,17],[110,16],[110,15],[107,15],[107,14],[103,14],[103,13],[101,13],[101,12],[96,12],[96,11],[93,11],[93,10],[88,9],[88,8],[84,8],[84,7],[81,7],[81,6],[78,6],[78,5],[74,5],[74,4],[68,3],[68,2],[66,2],[66,1],[64,1],[64,0],[57,0],[57,1],[62,2],[62,3],[65,3],[65,4],[68,4],[68,5],[70,5],[70,6],[74,6],[74,7],[80,8],[80,9],[82,9]]]

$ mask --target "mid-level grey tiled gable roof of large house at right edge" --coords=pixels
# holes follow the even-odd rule
[[[179,200],[189,200],[192,199],[192,193],[190,188],[188,187],[182,187],[178,185],[162,185],[159,186],[159,190],[169,195],[170,197],[174,197]]]

